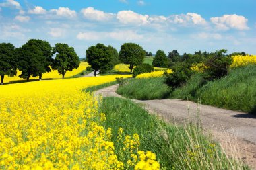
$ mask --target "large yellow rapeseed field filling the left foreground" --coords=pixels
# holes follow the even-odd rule
[[[138,151],[137,134],[120,139],[131,160],[119,161],[98,99],[82,92],[119,76],[2,85],[0,169],[160,169],[154,153]]]

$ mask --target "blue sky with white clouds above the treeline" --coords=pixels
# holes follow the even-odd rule
[[[0,0],[0,42],[65,43],[80,58],[97,43],[120,50],[125,42],[153,54],[256,54],[255,8],[255,0]]]

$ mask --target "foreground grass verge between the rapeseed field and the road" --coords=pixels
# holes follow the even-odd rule
[[[125,135],[139,134],[139,149],[156,153],[161,167],[166,169],[248,169],[241,161],[228,159],[197,126],[166,124],[130,100],[104,98],[100,112],[106,114],[104,126],[112,128],[112,141],[120,160],[123,148],[118,141],[119,127]]]

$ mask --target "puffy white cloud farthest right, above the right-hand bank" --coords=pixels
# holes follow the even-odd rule
[[[210,20],[219,30],[229,30],[230,28],[237,30],[249,29],[247,26],[248,19],[241,15],[223,15],[222,17],[211,17]]]

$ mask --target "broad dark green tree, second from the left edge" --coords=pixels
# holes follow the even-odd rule
[[[19,77],[27,79],[27,81],[29,81],[31,76],[42,76],[42,73],[48,71],[46,68],[46,63],[48,62],[46,57],[44,57],[44,52],[33,41],[29,40],[22,47],[18,48],[18,69],[22,71]]]

